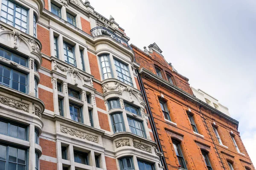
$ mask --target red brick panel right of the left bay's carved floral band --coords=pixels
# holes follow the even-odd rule
[[[38,98],[44,102],[45,109],[54,111],[53,109],[53,94],[42,88],[38,88]]]

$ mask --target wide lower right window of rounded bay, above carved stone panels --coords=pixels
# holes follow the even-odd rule
[[[131,117],[127,117],[127,119],[128,119],[128,123],[129,123],[131,133],[134,133],[135,135],[138,135],[138,136],[141,136],[141,137],[145,138],[146,135],[145,135],[143,122],[138,121],[136,119],[133,119]]]

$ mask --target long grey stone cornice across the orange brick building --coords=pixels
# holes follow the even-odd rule
[[[166,81],[165,79],[162,79],[162,78],[158,77],[157,75],[155,75],[151,71],[148,71],[145,68],[141,68],[139,70],[139,73],[144,75],[145,77],[150,78],[151,81],[154,81],[157,84],[160,84],[163,87],[168,88],[168,90],[174,92],[175,94],[177,94],[179,96],[182,96],[183,98],[189,100],[190,102],[193,102],[197,105],[201,105],[202,107],[206,108],[207,110],[212,111],[212,113],[215,113],[218,116],[226,119],[227,121],[232,122],[233,124],[237,125],[237,127],[238,127],[239,122],[237,120],[231,118],[230,116],[227,116],[226,114],[222,113],[221,111],[218,111],[215,108],[212,108],[211,106],[207,105],[207,103],[195,98],[191,94],[186,93],[185,91],[181,90],[180,88],[177,88],[175,85],[172,85],[170,82]]]

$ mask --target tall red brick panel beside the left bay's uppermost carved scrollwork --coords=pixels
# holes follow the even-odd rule
[[[37,26],[37,38],[42,44],[41,52],[47,56],[51,56],[50,52],[50,32],[42,26]]]

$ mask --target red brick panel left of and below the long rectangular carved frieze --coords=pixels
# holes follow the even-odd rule
[[[56,156],[56,144],[53,141],[39,138],[40,146],[42,147],[42,154],[57,158]]]

